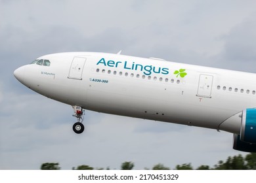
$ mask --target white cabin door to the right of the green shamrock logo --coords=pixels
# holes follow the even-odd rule
[[[198,82],[197,96],[211,98],[212,86],[213,86],[213,76],[201,74]]]

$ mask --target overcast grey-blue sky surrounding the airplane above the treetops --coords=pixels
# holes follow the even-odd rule
[[[163,163],[217,164],[246,153],[232,134],[86,111],[72,131],[72,107],[18,82],[14,69],[45,54],[93,51],[255,72],[255,1],[0,0],[0,169],[58,162],[119,169]],[[184,111],[185,112],[185,111]]]

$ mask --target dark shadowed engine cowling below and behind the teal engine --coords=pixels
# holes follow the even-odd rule
[[[256,144],[240,141],[240,135],[234,134],[233,149],[244,152],[256,152]]]

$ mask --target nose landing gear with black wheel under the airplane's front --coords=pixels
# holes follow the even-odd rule
[[[73,130],[75,133],[80,134],[83,133],[85,130],[85,126],[82,124],[83,122],[83,115],[85,115],[85,110],[79,106],[74,106],[74,112],[73,116],[77,118],[77,122],[73,125]]]

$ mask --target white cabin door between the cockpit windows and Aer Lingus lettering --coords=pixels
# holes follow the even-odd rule
[[[83,67],[85,66],[85,61],[86,58],[74,57],[70,66],[70,73],[68,74],[68,78],[82,80]]]

